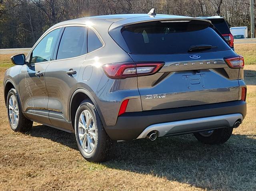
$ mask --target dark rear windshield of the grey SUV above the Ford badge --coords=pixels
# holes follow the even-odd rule
[[[230,49],[210,27],[210,23],[206,22],[146,22],[125,26],[121,29],[121,34],[128,52],[132,54],[191,53],[189,49],[195,45],[212,45],[213,48],[193,52]],[[120,46],[122,47],[122,43]]]

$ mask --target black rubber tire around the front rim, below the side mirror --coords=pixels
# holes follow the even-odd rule
[[[14,96],[18,103],[18,114],[19,115],[18,115],[18,122],[16,124],[13,124],[10,119],[9,101],[10,101],[11,96]],[[18,99],[17,92],[15,89],[10,89],[10,91],[8,92],[7,99],[6,99],[6,106],[7,106],[8,120],[9,120],[9,124],[10,124],[12,130],[14,130],[15,132],[28,132],[32,128],[33,122],[28,120],[22,114],[20,100]]]

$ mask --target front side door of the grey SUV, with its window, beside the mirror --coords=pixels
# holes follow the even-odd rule
[[[42,37],[27,57],[27,64],[20,71],[20,98],[22,109],[28,118],[50,124],[48,92],[45,85],[45,70],[52,61],[61,28]]]

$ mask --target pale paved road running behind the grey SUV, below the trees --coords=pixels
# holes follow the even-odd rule
[[[256,38],[247,38],[247,39],[234,39],[235,44],[248,44],[256,43]],[[28,53],[31,48],[10,48],[10,49],[0,49],[0,54],[20,54]]]

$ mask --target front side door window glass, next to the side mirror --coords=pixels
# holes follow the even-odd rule
[[[60,28],[48,33],[33,50],[30,63],[50,61],[53,54]]]

